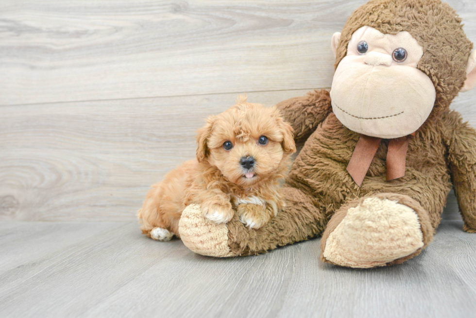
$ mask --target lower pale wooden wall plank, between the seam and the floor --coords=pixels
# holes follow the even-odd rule
[[[272,105],[306,90],[258,92]],[[467,96],[467,97],[465,97]],[[0,220],[128,221],[237,94],[0,107]],[[476,126],[476,91],[454,102]],[[446,218],[458,211],[450,197]]]

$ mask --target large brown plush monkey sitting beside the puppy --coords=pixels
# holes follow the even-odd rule
[[[476,54],[440,0],[371,0],[334,34],[329,92],[278,104],[296,141],[287,207],[259,230],[214,224],[197,206],[182,240],[212,256],[256,254],[322,234],[321,258],[371,268],[402,263],[431,241],[453,185],[476,232],[476,132],[449,105],[476,85]]]

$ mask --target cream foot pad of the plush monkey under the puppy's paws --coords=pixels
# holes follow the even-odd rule
[[[179,234],[185,246],[195,253],[214,256],[236,256],[228,247],[228,228],[206,219],[198,204],[190,204],[182,212]]]

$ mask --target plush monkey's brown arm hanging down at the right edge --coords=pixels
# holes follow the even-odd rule
[[[452,111],[443,117],[448,164],[463,217],[463,230],[476,233],[476,131]]]

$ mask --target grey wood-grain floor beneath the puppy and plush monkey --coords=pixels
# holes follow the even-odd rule
[[[474,317],[476,235],[461,227],[443,221],[403,265],[355,270],[321,263],[318,239],[218,259],[146,238],[136,223],[4,222],[0,316]]]

